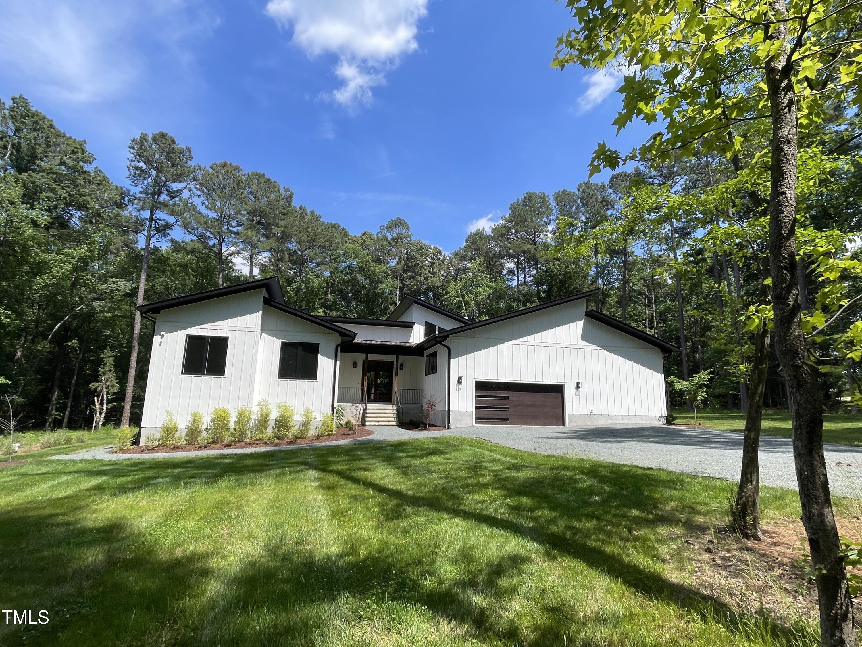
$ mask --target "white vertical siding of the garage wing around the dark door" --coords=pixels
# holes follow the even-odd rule
[[[584,311],[578,300],[450,337],[453,426],[473,424],[476,380],[562,384],[567,424],[662,422],[661,351]]]

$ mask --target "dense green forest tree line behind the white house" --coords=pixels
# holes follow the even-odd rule
[[[24,97],[0,102],[0,155],[0,392],[28,426],[121,422],[127,381],[136,422],[152,328],[135,305],[264,276],[290,305],[345,317],[387,317],[410,294],[481,319],[597,287],[592,307],[678,344],[667,374],[707,372],[707,404],[746,409],[765,240],[746,234],[745,202],[710,193],[735,173],[726,157],[526,192],[446,254],[413,236],[409,215],[353,236],[265,173],[199,165],[166,133],[129,143],[116,185]],[[859,189],[857,170],[835,168],[810,192],[812,227],[858,230]],[[830,258],[855,259],[839,238]],[[800,262],[813,307],[823,281]],[[827,404],[858,393],[858,374],[852,358],[828,373]],[[772,351],[765,405],[787,404]]]

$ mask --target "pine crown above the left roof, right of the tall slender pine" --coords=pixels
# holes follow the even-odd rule
[[[183,229],[215,255],[218,286],[224,286],[225,262],[240,253],[239,230],[246,210],[246,176],[240,166],[214,162],[195,174],[192,191],[200,208],[190,209]]]

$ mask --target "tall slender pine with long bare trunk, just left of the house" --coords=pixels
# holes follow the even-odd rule
[[[192,176],[191,148],[179,146],[167,133],[152,136],[141,133],[128,145],[128,181],[134,187],[131,206],[138,215],[144,247],[141,256],[141,277],[134,305],[144,303],[147,287],[147,263],[153,242],[173,229],[184,212],[184,194]],[[141,340],[141,312],[134,311],[132,344],[128,358],[126,394],[122,403],[120,426],[128,427],[132,414],[134,376],[138,366],[138,347]]]

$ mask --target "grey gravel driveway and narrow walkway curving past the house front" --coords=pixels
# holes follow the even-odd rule
[[[332,445],[374,443],[403,438],[465,436],[483,438],[491,443],[538,454],[585,456],[602,461],[628,463],[645,468],[665,468],[684,474],[737,481],[740,476],[742,457],[742,434],[740,433],[664,425],[602,426],[585,429],[477,426],[446,431],[409,431],[397,427],[373,427],[372,430],[374,434],[365,438],[293,447],[219,449],[170,454],[109,454],[109,448],[99,448],[77,454],[53,456],[53,458],[66,460],[179,458],[189,455],[320,449]],[[759,459],[761,483],[796,489],[790,438],[761,437]],[[862,448],[828,444],[826,462],[832,492],[862,499]]]

